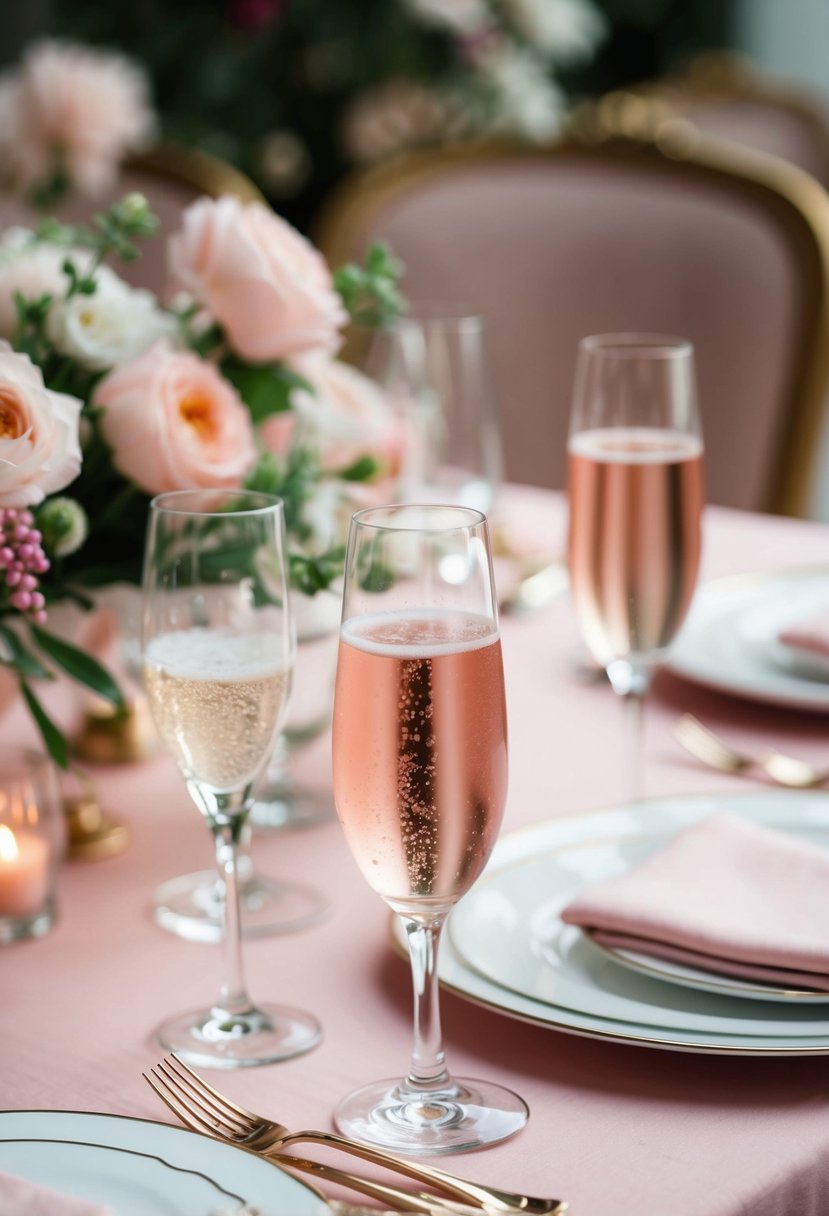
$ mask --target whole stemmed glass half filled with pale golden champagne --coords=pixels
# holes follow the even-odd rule
[[[153,499],[143,569],[142,659],[162,742],[213,834],[225,894],[226,974],[210,1008],[156,1035],[190,1063],[267,1064],[320,1041],[316,1018],[254,1006],[242,973],[237,846],[273,750],[295,651],[282,502],[242,491]]]

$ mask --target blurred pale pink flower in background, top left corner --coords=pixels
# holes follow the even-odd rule
[[[122,55],[35,43],[6,78],[0,145],[24,185],[49,180],[57,163],[73,186],[100,193],[114,184],[124,156],[154,134],[147,91],[145,74]]]

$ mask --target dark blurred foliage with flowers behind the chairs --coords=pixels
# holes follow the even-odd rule
[[[308,231],[353,165],[481,134],[547,140],[585,95],[728,45],[732,4],[32,0],[6,9],[16,10],[0,16],[10,64],[44,36],[128,56],[146,73],[164,136],[237,165]]]

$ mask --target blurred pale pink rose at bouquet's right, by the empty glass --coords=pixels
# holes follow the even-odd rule
[[[349,364],[320,355],[294,359],[292,367],[314,388],[314,394],[294,395],[294,409],[325,468],[344,472],[372,456],[379,463],[378,479],[399,469],[404,430],[374,381]]]

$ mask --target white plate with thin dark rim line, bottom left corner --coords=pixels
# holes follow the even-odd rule
[[[325,1200],[270,1161],[181,1127],[74,1110],[0,1111],[0,1171],[117,1216],[323,1216]]]

